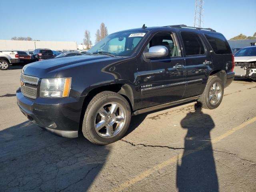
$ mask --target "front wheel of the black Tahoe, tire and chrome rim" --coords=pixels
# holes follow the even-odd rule
[[[131,120],[131,109],[120,94],[100,92],[88,104],[84,114],[82,132],[90,142],[106,145],[120,140]]]

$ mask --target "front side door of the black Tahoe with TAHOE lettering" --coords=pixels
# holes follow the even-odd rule
[[[174,33],[160,32],[151,38],[144,49],[152,46],[166,46],[168,56],[138,61],[138,85],[142,94],[142,108],[182,98],[186,86],[184,58],[180,55]]]

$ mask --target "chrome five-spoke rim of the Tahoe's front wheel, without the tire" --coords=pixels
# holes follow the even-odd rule
[[[118,102],[104,104],[94,119],[94,129],[103,138],[111,138],[118,134],[125,124],[125,110]]]

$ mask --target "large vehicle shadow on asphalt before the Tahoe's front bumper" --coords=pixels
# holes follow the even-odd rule
[[[68,139],[23,122],[0,131],[1,191],[86,191],[111,146]]]

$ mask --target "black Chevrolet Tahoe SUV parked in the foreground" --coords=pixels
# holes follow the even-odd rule
[[[28,64],[16,96],[40,127],[95,144],[122,138],[132,115],[198,101],[214,109],[234,79],[226,38],[210,28],[148,27],[110,34],[86,55]]]

